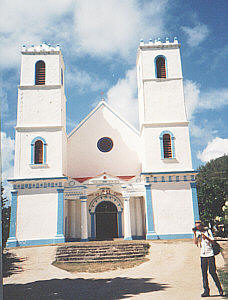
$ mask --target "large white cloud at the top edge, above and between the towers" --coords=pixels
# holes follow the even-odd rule
[[[126,58],[140,38],[163,32],[166,6],[166,0],[144,5],[136,0],[77,1],[75,33],[79,50],[90,55],[119,54]]]

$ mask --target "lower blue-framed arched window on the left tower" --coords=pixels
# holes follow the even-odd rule
[[[38,136],[32,140],[31,143],[31,164],[46,164],[47,143]]]

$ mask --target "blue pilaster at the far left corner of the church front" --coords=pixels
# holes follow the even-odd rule
[[[6,247],[18,246],[16,239],[16,227],[17,227],[17,191],[11,192],[11,213],[10,213],[10,232],[9,238],[6,243]]]

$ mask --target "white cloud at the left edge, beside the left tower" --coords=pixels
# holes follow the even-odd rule
[[[7,137],[5,132],[1,132],[1,163],[2,163],[2,183],[4,194],[10,199],[10,184],[8,178],[13,177],[14,162],[14,140]]]

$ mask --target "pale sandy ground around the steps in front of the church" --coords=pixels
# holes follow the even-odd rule
[[[199,249],[192,241],[150,244],[150,261],[132,269],[93,274],[72,274],[52,266],[53,246],[12,249],[11,255],[26,259],[16,262],[20,268],[4,279],[4,299],[202,299]],[[225,247],[226,242],[221,245]],[[216,264],[224,266],[221,254]],[[212,299],[222,299],[210,275],[209,284]]]

